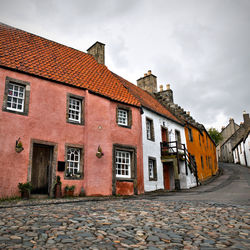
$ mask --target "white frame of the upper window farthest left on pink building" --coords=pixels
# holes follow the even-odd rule
[[[10,89],[11,87],[12,87],[12,89]],[[23,91],[20,91],[21,88],[23,89]],[[14,95],[15,93],[17,94],[16,96]],[[11,100],[9,101],[9,99],[11,99]],[[13,102],[14,99],[16,99],[16,103]],[[9,86],[8,86],[6,109],[17,111],[17,112],[23,112],[24,111],[24,101],[25,101],[25,86],[23,86],[21,84],[16,84],[16,83],[10,82]],[[11,104],[11,107],[8,107],[9,103]],[[13,105],[16,105],[16,108],[14,108]],[[18,108],[18,106],[20,106],[20,105],[21,105],[21,108]]]

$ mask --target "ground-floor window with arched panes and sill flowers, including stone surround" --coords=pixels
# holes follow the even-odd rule
[[[83,147],[66,145],[66,172],[65,177],[78,179],[83,177]]]

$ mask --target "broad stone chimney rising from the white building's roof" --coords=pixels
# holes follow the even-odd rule
[[[143,77],[137,80],[137,86],[153,94],[157,92],[157,77],[151,70],[145,73]]]

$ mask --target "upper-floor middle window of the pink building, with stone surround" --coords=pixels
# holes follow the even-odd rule
[[[67,122],[83,125],[84,124],[84,99],[82,96],[67,94]]]

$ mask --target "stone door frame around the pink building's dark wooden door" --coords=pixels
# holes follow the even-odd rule
[[[57,153],[58,153],[58,144],[55,142],[42,141],[38,139],[30,140],[30,154],[29,154],[29,166],[28,166],[28,181],[31,182],[31,173],[32,173],[32,160],[33,160],[33,148],[34,144],[41,144],[45,146],[50,146],[52,148],[52,159],[51,159],[51,177],[48,180],[50,183],[49,187],[49,196],[53,196],[53,183],[56,180],[56,166],[57,166]]]

